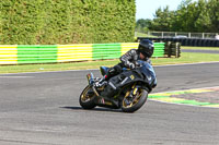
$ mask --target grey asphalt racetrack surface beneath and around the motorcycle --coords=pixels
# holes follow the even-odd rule
[[[219,84],[219,63],[154,69],[153,93]],[[0,145],[219,144],[217,108],[148,100],[135,113],[81,109],[88,72],[1,74]]]

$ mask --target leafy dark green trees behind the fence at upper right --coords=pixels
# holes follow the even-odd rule
[[[219,1],[183,0],[176,11],[159,8],[153,20],[138,20],[136,31],[218,33]]]

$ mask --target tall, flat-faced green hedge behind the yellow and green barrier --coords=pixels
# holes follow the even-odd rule
[[[1,0],[1,45],[134,40],[135,0]]]

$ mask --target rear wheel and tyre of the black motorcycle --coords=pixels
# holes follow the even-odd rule
[[[79,97],[79,104],[83,109],[93,109],[96,107],[95,97],[92,86],[88,85]]]

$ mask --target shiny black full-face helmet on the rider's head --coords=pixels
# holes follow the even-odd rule
[[[153,43],[149,39],[142,39],[138,46],[138,51],[150,58],[153,55]]]

